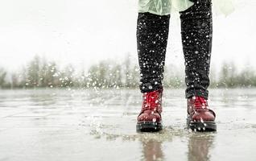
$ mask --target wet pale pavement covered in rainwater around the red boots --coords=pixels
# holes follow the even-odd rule
[[[135,131],[137,89],[0,91],[0,161],[256,160],[256,89],[209,90],[215,133],[186,130],[184,90],[167,89],[154,134]]]

